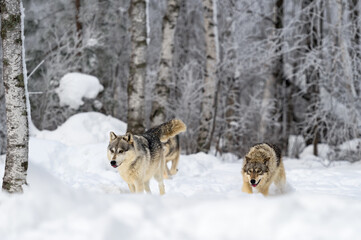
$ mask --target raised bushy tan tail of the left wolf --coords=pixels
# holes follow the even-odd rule
[[[156,135],[161,142],[165,143],[169,138],[172,138],[181,132],[185,132],[186,130],[187,126],[182,120],[172,119],[157,127],[149,129],[146,133]]]

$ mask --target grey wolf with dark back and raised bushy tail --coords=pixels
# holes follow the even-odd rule
[[[107,151],[110,165],[118,169],[131,192],[142,193],[145,190],[150,193],[149,181],[154,177],[158,182],[159,192],[163,195],[165,193],[163,143],[184,131],[186,125],[179,119],[173,119],[141,135],[128,132],[117,136],[114,132],[110,132]]]

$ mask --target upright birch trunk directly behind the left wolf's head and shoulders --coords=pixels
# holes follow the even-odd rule
[[[132,0],[129,8],[131,19],[131,57],[128,80],[128,129],[134,134],[145,130],[144,84],[147,62],[146,0]]]

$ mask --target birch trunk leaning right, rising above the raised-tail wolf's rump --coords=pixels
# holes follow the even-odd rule
[[[169,84],[173,82],[174,32],[179,14],[179,1],[168,0],[167,10],[163,17],[163,38],[158,79],[155,84],[156,100],[152,102],[151,126],[165,122],[166,104],[169,102]]]

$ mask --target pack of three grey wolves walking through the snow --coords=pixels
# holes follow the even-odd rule
[[[107,157],[132,193],[151,193],[149,181],[158,182],[159,193],[165,194],[164,179],[178,172],[180,143],[178,134],[187,130],[182,120],[172,119],[140,135],[110,132]],[[171,162],[171,168],[168,167]],[[253,145],[243,159],[242,191],[268,196],[273,183],[281,193],[285,190],[286,173],[281,150],[270,143]]]

